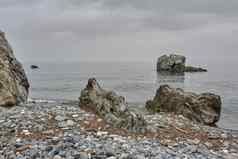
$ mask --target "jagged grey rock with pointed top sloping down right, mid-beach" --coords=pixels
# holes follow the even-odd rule
[[[118,96],[115,92],[105,91],[94,78],[88,80],[79,101],[80,107],[93,110],[106,123],[116,128],[145,132],[146,122],[142,115],[129,111],[124,97]]]

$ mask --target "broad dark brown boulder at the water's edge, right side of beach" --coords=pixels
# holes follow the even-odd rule
[[[162,85],[146,108],[151,112],[172,112],[182,114],[192,121],[214,125],[220,119],[221,98],[215,94],[195,94],[182,89]]]

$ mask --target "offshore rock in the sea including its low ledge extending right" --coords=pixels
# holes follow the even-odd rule
[[[157,72],[183,74],[184,72],[207,72],[200,67],[186,66],[186,57],[182,55],[163,55],[157,61]]]

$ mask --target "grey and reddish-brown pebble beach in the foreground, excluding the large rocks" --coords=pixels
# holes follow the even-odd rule
[[[144,114],[150,133],[112,128],[78,102],[0,107],[0,159],[238,158],[238,132]]]

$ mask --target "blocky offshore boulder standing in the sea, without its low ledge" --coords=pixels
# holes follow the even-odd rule
[[[158,72],[184,73],[186,58],[181,55],[163,55],[157,61]]]

